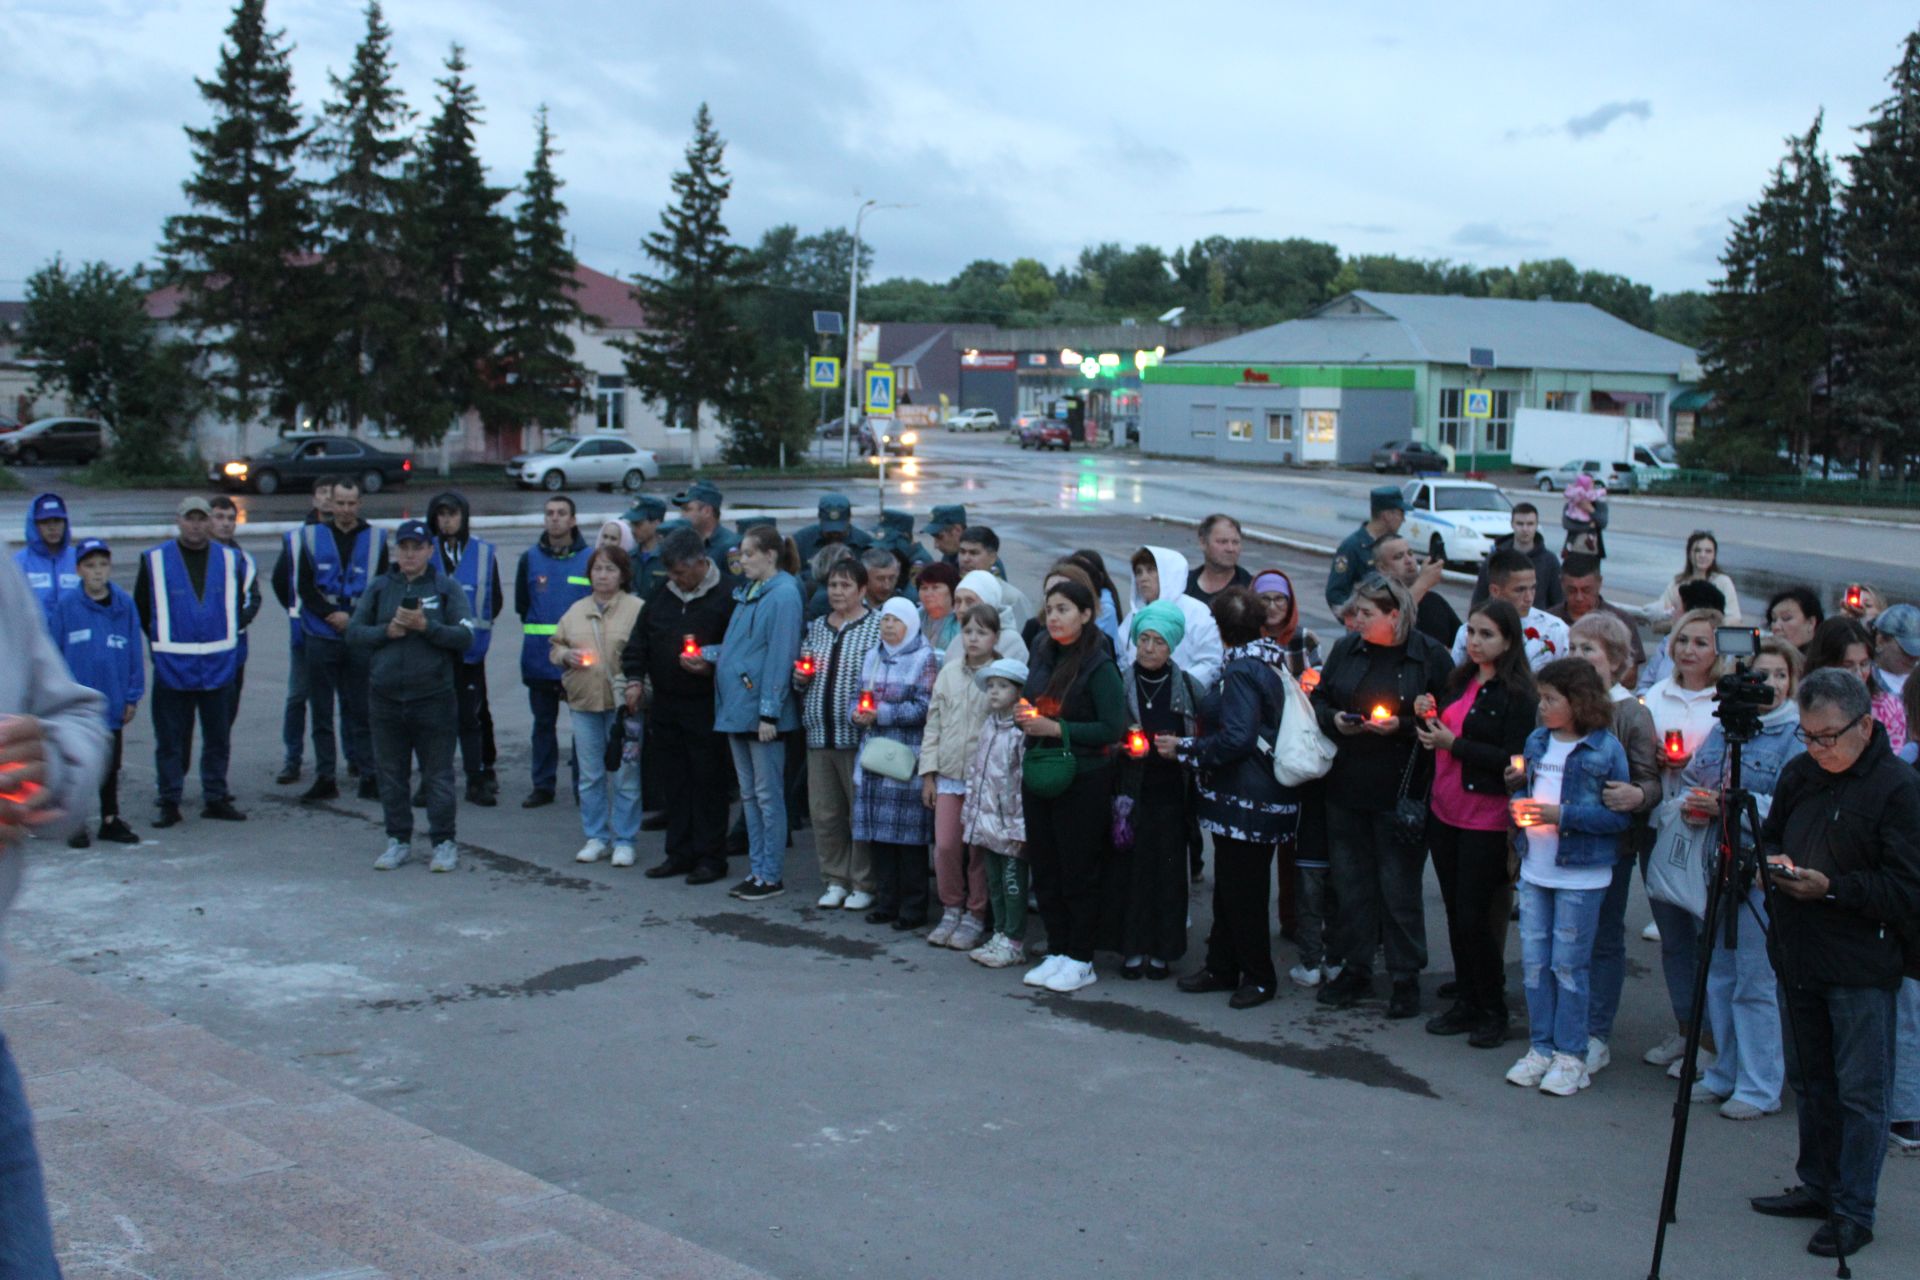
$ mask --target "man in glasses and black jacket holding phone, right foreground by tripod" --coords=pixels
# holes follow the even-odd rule
[[[1814,672],[1797,700],[1807,754],[1780,773],[1761,850],[1776,889],[1768,956],[1799,1100],[1801,1184],[1751,1203],[1824,1219],[1807,1251],[1834,1257],[1874,1240],[1903,935],[1920,925],[1920,779],[1851,672]]]

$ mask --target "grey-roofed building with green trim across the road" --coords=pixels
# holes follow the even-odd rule
[[[1421,439],[1509,462],[1513,415],[1655,418],[1699,380],[1692,347],[1588,303],[1342,294],[1298,320],[1169,355],[1146,372],[1140,447],[1260,462],[1365,462]],[[1465,391],[1492,393],[1488,418]]]

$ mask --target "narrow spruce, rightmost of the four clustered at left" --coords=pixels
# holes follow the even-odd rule
[[[492,428],[534,422],[564,432],[580,409],[586,370],[574,359],[570,328],[580,324],[574,297],[574,255],[566,248],[566,205],[553,173],[553,130],[547,107],[536,117],[534,165],[520,186],[513,219],[513,259],[507,267],[495,395],[482,405]]]

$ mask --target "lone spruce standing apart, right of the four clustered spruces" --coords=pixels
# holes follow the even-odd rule
[[[674,175],[674,203],[660,211],[660,228],[641,242],[653,273],[634,276],[634,299],[647,313],[647,328],[622,344],[626,372],[641,397],[693,432],[695,468],[701,409],[728,413],[730,397],[753,374],[753,345],[735,313],[745,265],[720,221],[733,190],[724,161],[726,142],[703,102],[693,115],[687,167]]]

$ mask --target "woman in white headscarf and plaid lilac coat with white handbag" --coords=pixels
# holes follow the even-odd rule
[[[927,923],[927,842],[933,810],[920,796],[920,737],[933,700],[939,662],[920,633],[920,610],[900,597],[879,608],[879,645],[866,654],[860,693],[849,720],[860,729],[860,764],[852,779],[852,839],[874,852],[879,892],[868,923],[918,929]],[[866,768],[868,743],[889,739],[914,754],[904,779]]]

